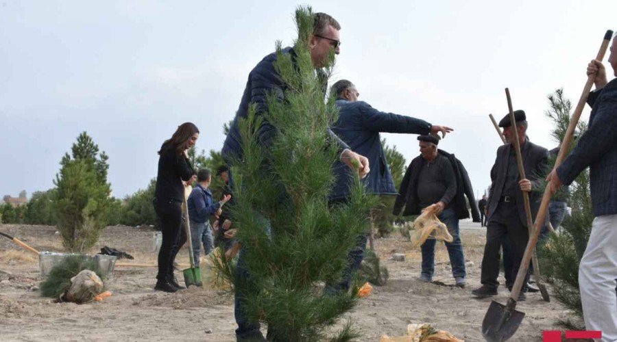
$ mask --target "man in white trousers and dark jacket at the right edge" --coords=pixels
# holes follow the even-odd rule
[[[610,51],[608,61],[617,76],[617,38]],[[594,74],[596,90],[588,97],[592,106],[588,130],[547,181],[555,193],[590,168],[595,218],[579,265],[579,287],[585,328],[601,330],[601,341],[608,342],[617,341],[617,79],[607,82],[598,60],[587,68],[587,75]]]

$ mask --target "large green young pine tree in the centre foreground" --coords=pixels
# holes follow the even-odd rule
[[[328,203],[332,165],[339,156],[326,130],[337,109],[333,97],[324,101],[323,87],[334,53],[326,77],[318,77],[308,49],[311,8],[298,8],[295,22],[295,61],[276,44],[275,68],[287,86],[285,101],[270,94],[263,117],[252,107],[240,123],[243,160],[232,163],[234,224],[240,227],[237,238],[250,276],[232,280],[246,299],[247,317],[267,324],[276,341],[320,341],[356,302],[355,291],[326,294],[322,286],[341,280],[372,203],[359,181],[348,202]],[[278,131],[268,147],[257,139],[263,119]],[[348,324],[336,341],[350,336]]]

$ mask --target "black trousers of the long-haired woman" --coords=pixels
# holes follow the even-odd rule
[[[178,254],[182,231],[182,203],[176,200],[155,200],[154,211],[160,220],[162,243],[158,252],[158,280],[173,274],[173,259]],[[186,234],[184,234],[186,241]]]

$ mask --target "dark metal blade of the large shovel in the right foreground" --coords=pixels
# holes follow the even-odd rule
[[[482,321],[482,335],[486,341],[502,342],[512,337],[525,317],[525,313],[514,309],[515,306],[516,302],[511,298],[507,306],[494,300],[491,302]]]

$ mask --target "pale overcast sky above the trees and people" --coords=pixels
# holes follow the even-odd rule
[[[291,44],[302,4],[0,0],[0,196],[53,187],[82,131],[109,155],[117,197],[156,176],[156,150],[182,122],[199,127],[199,150],[219,150],[248,73],[276,40]],[[546,95],[563,87],[576,105],[617,28],[615,0],[311,5],[342,26],[332,81],[354,82],[381,111],[453,127],[439,147],[463,161],[476,194],[490,184],[500,140],[488,114],[506,114],[504,88],[531,140],[553,148]],[[419,154],[415,135],[383,135],[408,163]]]

